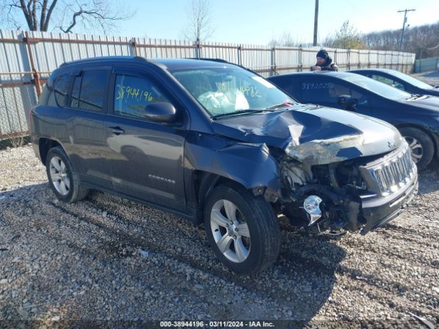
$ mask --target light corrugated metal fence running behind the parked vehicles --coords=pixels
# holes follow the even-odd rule
[[[320,47],[268,47],[217,42],[91,36],[0,29],[0,140],[27,132],[27,111],[41,86],[63,62],[98,56],[220,58],[267,77],[307,71]],[[396,51],[327,49],[340,70],[388,68],[409,73],[414,54]]]

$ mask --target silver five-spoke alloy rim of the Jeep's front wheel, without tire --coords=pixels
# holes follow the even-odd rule
[[[233,202],[220,199],[211,210],[211,230],[220,252],[234,263],[242,263],[250,253],[250,232],[244,216]]]

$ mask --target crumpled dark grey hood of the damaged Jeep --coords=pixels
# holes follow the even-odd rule
[[[392,151],[403,139],[392,125],[365,115],[298,104],[289,110],[213,121],[216,134],[279,147],[307,164],[327,164]]]

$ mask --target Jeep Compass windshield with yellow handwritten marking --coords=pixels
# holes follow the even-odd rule
[[[171,71],[211,117],[286,108],[297,103],[273,84],[240,67]]]

